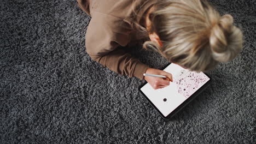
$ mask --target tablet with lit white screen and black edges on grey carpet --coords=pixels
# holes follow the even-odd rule
[[[172,74],[173,82],[170,81],[169,86],[155,90],[146,82],[139,87],[139,92],[165,120],[190,103],[211,82],[206,73],[189,71],[174,63],[168,63],[162,70]]]

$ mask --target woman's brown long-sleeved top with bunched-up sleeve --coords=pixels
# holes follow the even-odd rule
[[[144,79],[148,65],[120,49],[131,40],[139,39],[138,32],[125,20],[136,3],[132,0],[77,0],[79,7],[91,16],[85,34],[88,55],[104,67],[121,75]]]

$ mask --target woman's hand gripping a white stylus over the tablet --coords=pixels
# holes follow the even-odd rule
[[[167,87],[168,85],[170,85],[170,81],[173,82],[172,74],[167,73],[164,70],[148,68],[146,70],[146,73],[155,74],[155,75],[164,75],[167,77],[167,78],[162,78],[162,77],[144,76],[144,80],[146,80],[154,89]]]

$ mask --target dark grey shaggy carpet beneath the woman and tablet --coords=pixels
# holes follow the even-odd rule
[[[0,143],[255,143],[256,1],[211,1],[234,16],[244,48],[171,121],[138,92],[146,81],[92,61],[90,17],[72,1],[2,0]],[[159,53],[130,52],[152,68]]]

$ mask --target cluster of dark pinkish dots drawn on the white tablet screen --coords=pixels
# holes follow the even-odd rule
[[[175,76],[173,82],[176,83],[178,93],[182,94],[183,97],[188,98],[207,80],[208,77],[202,72],[196,73],[195,71],[183,69],[181,73]]]

